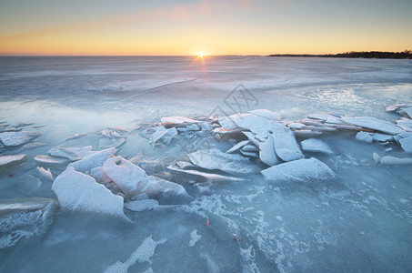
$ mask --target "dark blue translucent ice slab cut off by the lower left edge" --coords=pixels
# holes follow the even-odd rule
[[[0,248],[13,247],[21,238],[45,233],[57,207],[57,201],[49,198],[0,200]]]

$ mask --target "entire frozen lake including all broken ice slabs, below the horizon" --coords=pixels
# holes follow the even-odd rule
[[[10,57],[0,96],[2,272],[412,270],[410,60]]]

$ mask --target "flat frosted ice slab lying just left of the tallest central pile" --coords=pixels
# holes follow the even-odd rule
[[[198,167],[222,170],[231,174],[255,174],[260,171],[248,159],[240,155],[226,154],[218,149],[200,150],[188,154],[190,161]]]

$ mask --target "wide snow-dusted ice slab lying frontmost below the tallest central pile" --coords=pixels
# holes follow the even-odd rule
[[[266,168],[261,173],[266,179],[273,181],[306,181],[335,177],[335,173],[315,157],[279,164]]]

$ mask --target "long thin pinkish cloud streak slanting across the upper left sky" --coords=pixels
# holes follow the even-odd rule
[[[0,41],[31,39],[38,36],[65,35],[67,33],[106,29],[119,25],[135,23],[153,23],[164,20],[189,20],[199,16],[207,16],[213,12],[234,9],[250,9],[253,0],[200,0],[197,3],[170,5],[155,9],[138,9],[133,13],[113,15],[98,20],[78,22],[69,25],[56,25],[15,35],[0,35]]]

